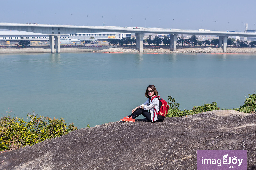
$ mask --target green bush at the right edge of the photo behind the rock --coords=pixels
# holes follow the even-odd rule
[[[244,101],[244,105],[235,108],[233,110],[237,110],[239,112],[244,112],[244,113],[256,113],[256,94],[248,94],[249,98],[247,98]]]

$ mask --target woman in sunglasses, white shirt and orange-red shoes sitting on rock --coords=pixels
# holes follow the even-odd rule
[[[159,110],[159,100],[157,97],[155,97],[151,101],[151,98],[154,96],[158,96],[156,87],[154,85],[149,85],[145,92],[145,97],[148,98],[148,100],[144,104],[132,109],[132,114],[124,117],[124,119],[121,119],[121,121],[135,122],[135,118],[142,114],[144,117],[146,117],[148,122],[156,122],[157,114],[154,107],[157,111]]]

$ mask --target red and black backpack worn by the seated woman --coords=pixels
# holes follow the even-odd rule
[[[165,101],[164,99],[161,99],[160,96],[152,97],[150,102],[152,102],[152,100],[155,97],[159,100],[159,110],[158,110],[158,112],[156,111],[156,107],[155,106],[153,107],[155,112],[156,112],[157,119],[164,120],[165,116],[168,113],[169,105],[168,105],[167,101]],[[154,114],[153,120],[154,120],[154,118],[155,118],[155,114]]]

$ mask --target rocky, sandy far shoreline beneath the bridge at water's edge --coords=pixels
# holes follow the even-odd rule
[[[56,51],[56,50],[55,50]],[[50,53],[48,46],[33,46],[27,48],[0,48],[0,53]],[[136,46],[99,46],[99,47],[68,47],[60,48],[60,53],[65,52],[101,52],[101,53],[140,53]],[[177,47],[171,51],[168,46],[144,46],[142,54],[256,54],[256,48],[250,47],[227,47],[227,52],[217,47]]]

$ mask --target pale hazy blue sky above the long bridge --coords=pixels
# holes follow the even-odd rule
[[[5,0],[0,22],[244,31],[245,23],[256,28],[255,7],[256,0]]]

